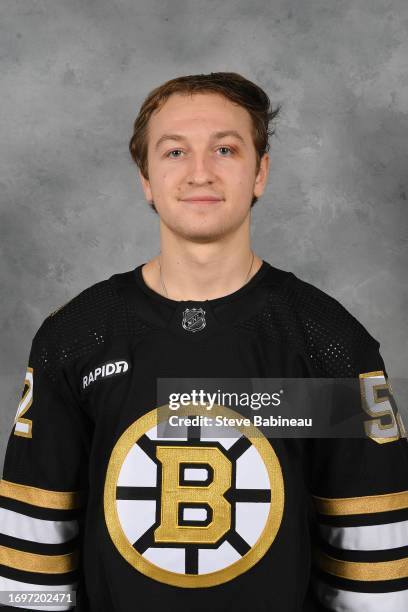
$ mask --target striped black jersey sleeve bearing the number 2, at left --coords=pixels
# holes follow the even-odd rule
[[[58,367],[51,327],[48,318],[32,342],[0,480],[3,609],[86,609],[80,603],[81,548],[90,427],[69,377]],[[23,591],[53,592],[54,603],[30,608],[18,597]],[[4,592],[14,597],[12,606],[4,605]]]

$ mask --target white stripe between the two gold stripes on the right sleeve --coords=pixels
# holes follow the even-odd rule
[[[389,550],[408,546],[408,521],[362,527],[319,525],[324,540],[344,550]]]

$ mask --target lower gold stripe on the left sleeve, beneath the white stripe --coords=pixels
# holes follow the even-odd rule
[[[0,545],[0,563],[41,574],[64,574],[78,567],[78,551],[66,555],[37,555]]]

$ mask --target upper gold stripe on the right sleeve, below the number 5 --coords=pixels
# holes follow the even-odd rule
[[[365,497],[341,497],[338,499],[313,495],[316,509],[320,514],[345,516],[348,514],[372,514],[408,508],[408,491],[367,495]]]

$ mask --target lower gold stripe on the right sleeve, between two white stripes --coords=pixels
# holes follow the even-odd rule
[[[356,562],[335,559],[318,551],[315,558],[320,569],[347,580],[374,581],[408,578],[408,557],[394,561]]]

